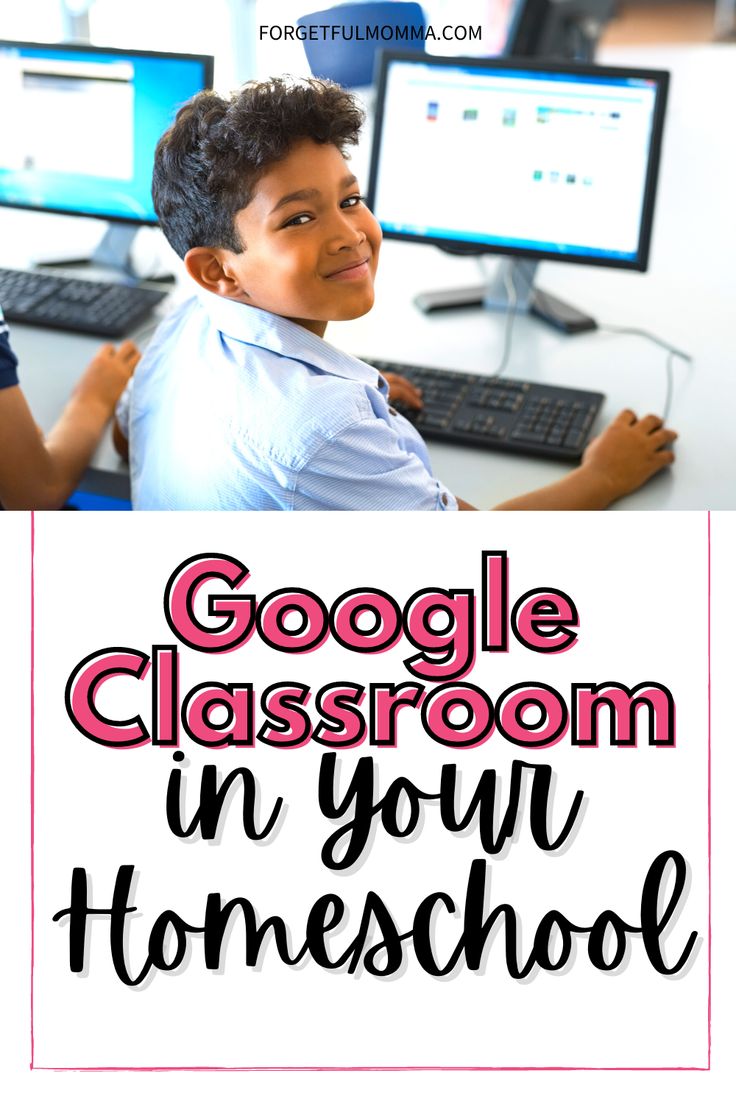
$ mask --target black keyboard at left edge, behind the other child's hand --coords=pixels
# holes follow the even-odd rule
[[[0,307],[10,322],[120,338],[129,333],[166,291],[128,284],[47,276],[0,268]]]

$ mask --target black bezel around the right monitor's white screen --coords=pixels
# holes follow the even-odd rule
[[[478,254],[495,254],[501,256],[524,257],[532,261],[564,261],[568,264],[596,265],[604,268],[626,268],[633,272],[647,272],[649,265],[649,254],[652,237],[652,226],[654,222],[654,206],[657,200],[657,187],[659,180],[659,166],[662,152],[662,139],[664,131],[664,113],[666,107],[670,74],[665,70],[632,68],[630,66],[594,65],[580,62],[557,62],[554,60],[527,60],[510,57],[447,57],[437,54],[416,54],[410,51],[382,51],[376,62],[376,96],[373,123],[373,144],[371,149],[371,163],[369,170],[369,187],[366,191],[367,205],[373,211],[376,195],[376,183],[380,169],[380,149],[383,132],[383,119],[386,98],[386,85],[388,67],[393,62],[409,62],[414,65],[429,65],[442,68],[478,68],[490,71],[522,71],[530,73],[555,73],[570,76],[610,76],[640,81],[653,81],[657,85],[654,97],[654,113],[652,118],[652,132],[650,144],[649,163],[647,167],[647,179],[644,182],[644,194],[641,209],[641,221],[639,225],[639,244],[637,254],[631,259],[620,257],[596,257],[585,254],[575,254],[565,251],[564,253],[532,250],[518,246],[497,246],[483,242],[469,243],[451,236],[436,237],[422,234],[410,234],[404,231],[384,230],[386,238],[416,242],[426,245],[436,245],[451,253],[474,256]],[[417,181],[416,187],[422,187],[422,181]],[[376,215],[378,217],[378,215]],[[380,220],[378,220],[380,221]]]

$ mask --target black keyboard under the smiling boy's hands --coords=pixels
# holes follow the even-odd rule
[[[423,437],[448,444],[577,460],[605,397],[597,391],[554,388],[505,376],[363,360],[380,372],[396,372],[420,388],[424,402],[420,411],[404,403],[393,405]]]

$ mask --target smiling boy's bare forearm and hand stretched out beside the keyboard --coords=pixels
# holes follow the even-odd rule
[[[632,411],[621,411],[590,442],[579,468],[547,487],[501,502],[495,509],[605,510],[672,464],[674,453],[669,446],[676,436],[654,414],[638,420]],[[461,510],[474,509],[460,499],[458,506]]]

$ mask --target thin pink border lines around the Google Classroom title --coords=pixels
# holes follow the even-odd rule
[[[708,1061],[707,1065],[35,1065],[33,1037],[33,997],[35,966],[35,514],[31,513],[31,1070],[57,1073],[355,1073],[355,1072],[700,1072],[711,1070],[712,1048],[712,871],[711,871],[711,511],[707,511],[707,869],[708,869]]]

